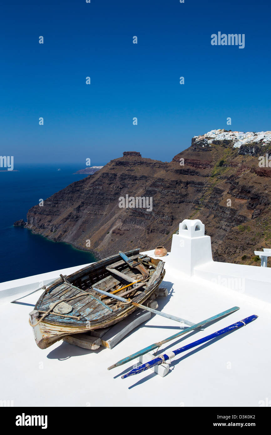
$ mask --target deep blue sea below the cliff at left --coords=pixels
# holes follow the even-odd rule
[[[0,172],[0,282],[96,260],[87,251],[74,249],[67,243],[53,242],[26,228],[13,227],[13,222],[27,220],[27,211],[40,198],[44,200],[86,177],[73,174],[83,167],[80,164],[22,165],[14,167],[18,172]]]

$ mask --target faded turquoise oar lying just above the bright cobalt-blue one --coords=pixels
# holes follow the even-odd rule
[[[230,308],[229,310],[222,311],[222,313],[219,313],[213,317],[209,317],[208,319],[203,320],[197,323],[196,325],[191,326],[190,328],[185,328],[184,331],[177,332],[177,334],[171,335],[170,337],[167,337],[162,341],[158,341],[157,343],[153,343],[152,345],[147,346],[147,348],[141,349],[140,351],[137,351],[136,353],[129,355],[126,358],[121,359],[120,361],[117,361],[116,364],[110,365],[110,367],[108,367],[107,370],[111,370],[111,368],[118,367],[119,365],[123,365],[126,362],[132,361],[134,358],[138,358],[139,356],[144,355],[147,352],[160,348],[161,345],[164,345],[168,341],[175,340],[175,338],[181,337],[181,335],[187,334],[187,332],[193,331],[196,328],[201,328],[203,325],[207,325],[207,323],[210,323],[211,321],[214,320],[218,320],[221,317],[231,314],[239,309],[240,309],[239,307]]]

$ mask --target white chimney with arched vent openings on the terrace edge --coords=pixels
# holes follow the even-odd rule
[[[204,224],[199,219],[184,219],[179,234],[173,234],[170,264],[177,270],[193,275],[195,266],[213,261],[210,236],[204,236]]]

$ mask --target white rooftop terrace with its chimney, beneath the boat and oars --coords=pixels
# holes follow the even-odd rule
[[[154,257],[154,251],[147,254]],[[111,350],[90,351],[63,341],[41,350],[28,313],[43,290],[20,300],[29,305],[10,301],[48,284],[60,273],[70,274],[84,266],[8,281],[0,284],[0,399],[13,400],[14,406],[258,407],[266,398],[271,404],[271,269],[213,261],[211,240],[204,235],[201,221],[183,221],[179,234],[173,236],[171,252],[162,259],[166,274],[161,287],[169,294],[157,299],[159,310],[195,323],[235,305],[240,310],[204,331],[167,343],[159,353],[250,315],[258,319],[186,351],[171,362],[164,378],[147,370],[123,380],[120,375],[136,361],[110,371],[107,367],[180,331],[177,322],[153,315]]]

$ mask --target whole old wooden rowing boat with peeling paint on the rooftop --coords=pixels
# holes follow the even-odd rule
[[[122,256],[120,255],[122,254]],[[144,304],[164,278],[164,262],[139,249],[90,264],[68,276],[60,275],[40,296],[30,313],[37,345],[45,349],[70,334],[106,328]],[[127,303],[101,295],[94,288],[127,298]]]

